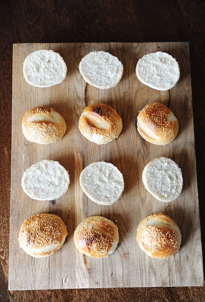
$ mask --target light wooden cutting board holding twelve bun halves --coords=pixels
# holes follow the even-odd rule
[[[36,88],[26,83],[23,62],[27,55],[39,49],[52,49],[64,58],[68,72],[62,84]],[[109,51],[122,61],[124,74],[117,87],[100,90],[83,80],[78,65],[81,58],[93,50]],[[180,80],[170,91],[151,89],[136,77],[139,58],[156,51],[168,52],[180,65]],[[173,143],[166,146],[153,145],[137,132],[139,110],[156,101],[167,105],[179,120],[179,134]],[[115,108],[123,119],[119,138],[107,145],[89,142],[78,130],[78,119],[83,109],[99,102]],[[51,106],[64,116],[67,131],[59,142],[40,145],[24,138],[22,118],[36,106]],[[203,285],[187,42],[14,44],[12,123],[10,290]],[[160,156],[174,160],[183,174],[182,193],[170,203],[155,199],[142,183],[144,166]],[[44,159],[59,161],[70,174],[68,191],[55,204],[32,200],[21,187],[23,172]],[[125,191],[111,206],[92,202],[79,185],[80,172],[97,161],[113,163],[124,175]],[[57,253],[35,259],[19,248],[18,233],[24,219],[43,212],[62,217],[68,236]],[[169,215],[179,225],[182,234],[181,249],[169,259],[149,258],[136,243],[140,220],[158,212]],[[76,225],[91,215],[105,216],[119,228],[118,249],[108,258],[90,258],[75,249],[73,232]]]

